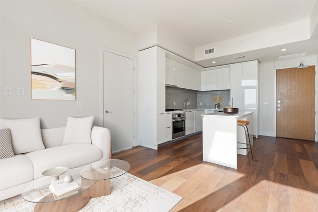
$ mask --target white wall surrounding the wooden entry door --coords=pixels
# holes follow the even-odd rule
[[[316,66],[316,72],[318,71],[318,55],[259,64],[259,135],[276,136],[276,70],[298,67],[300,63]],[[318,89],[317,82],[318,76],[316,74],[316,91]],[[267,102],[268,106],[263,106],[263,102]],[[317,95],[316,111],[318,111]],[[316,131],[318,132],[317,127],[318,119],[316,116]],[[317,135],[316,141],[318,141]]]

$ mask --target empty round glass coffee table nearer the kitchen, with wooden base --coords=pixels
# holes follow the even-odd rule
[[[96,183],[86,192],[90,198],[106,196],[110,194],[110,179],[119,177],[127,173],[130,164],[124,160],[109,159],[93,162],[79,172],[83,178],[82,185],[89,185],[91,181]]]

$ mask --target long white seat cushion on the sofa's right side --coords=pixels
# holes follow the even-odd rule
[[[101,159],[100,148],[87,143],[74,143],[46,148],[25,154],[33,163],[34,179],[42,177],[42,172],[57,166],[69,169]]]

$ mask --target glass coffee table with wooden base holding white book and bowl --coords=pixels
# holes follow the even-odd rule
[[[32,181],[22,192],[21,196],[24,200],[32,203],[37,203],[34,207],[34,212],[77,212],[82,209],[89,201],[89,196],[84,193],[92,187],[96,181],[82,183],[79,175],[79,169],[69,169],[64,175],[72,175],[73,179],[79,184],[79,188],[72,190],[66,194],[56,196],[50,189],[50,177],[42,177]],[[61,177],[63,177],[62,175]]]

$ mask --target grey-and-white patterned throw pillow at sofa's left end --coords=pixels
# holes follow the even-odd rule
[[[0,159],[13,157],[10,129],[0,130]]]

